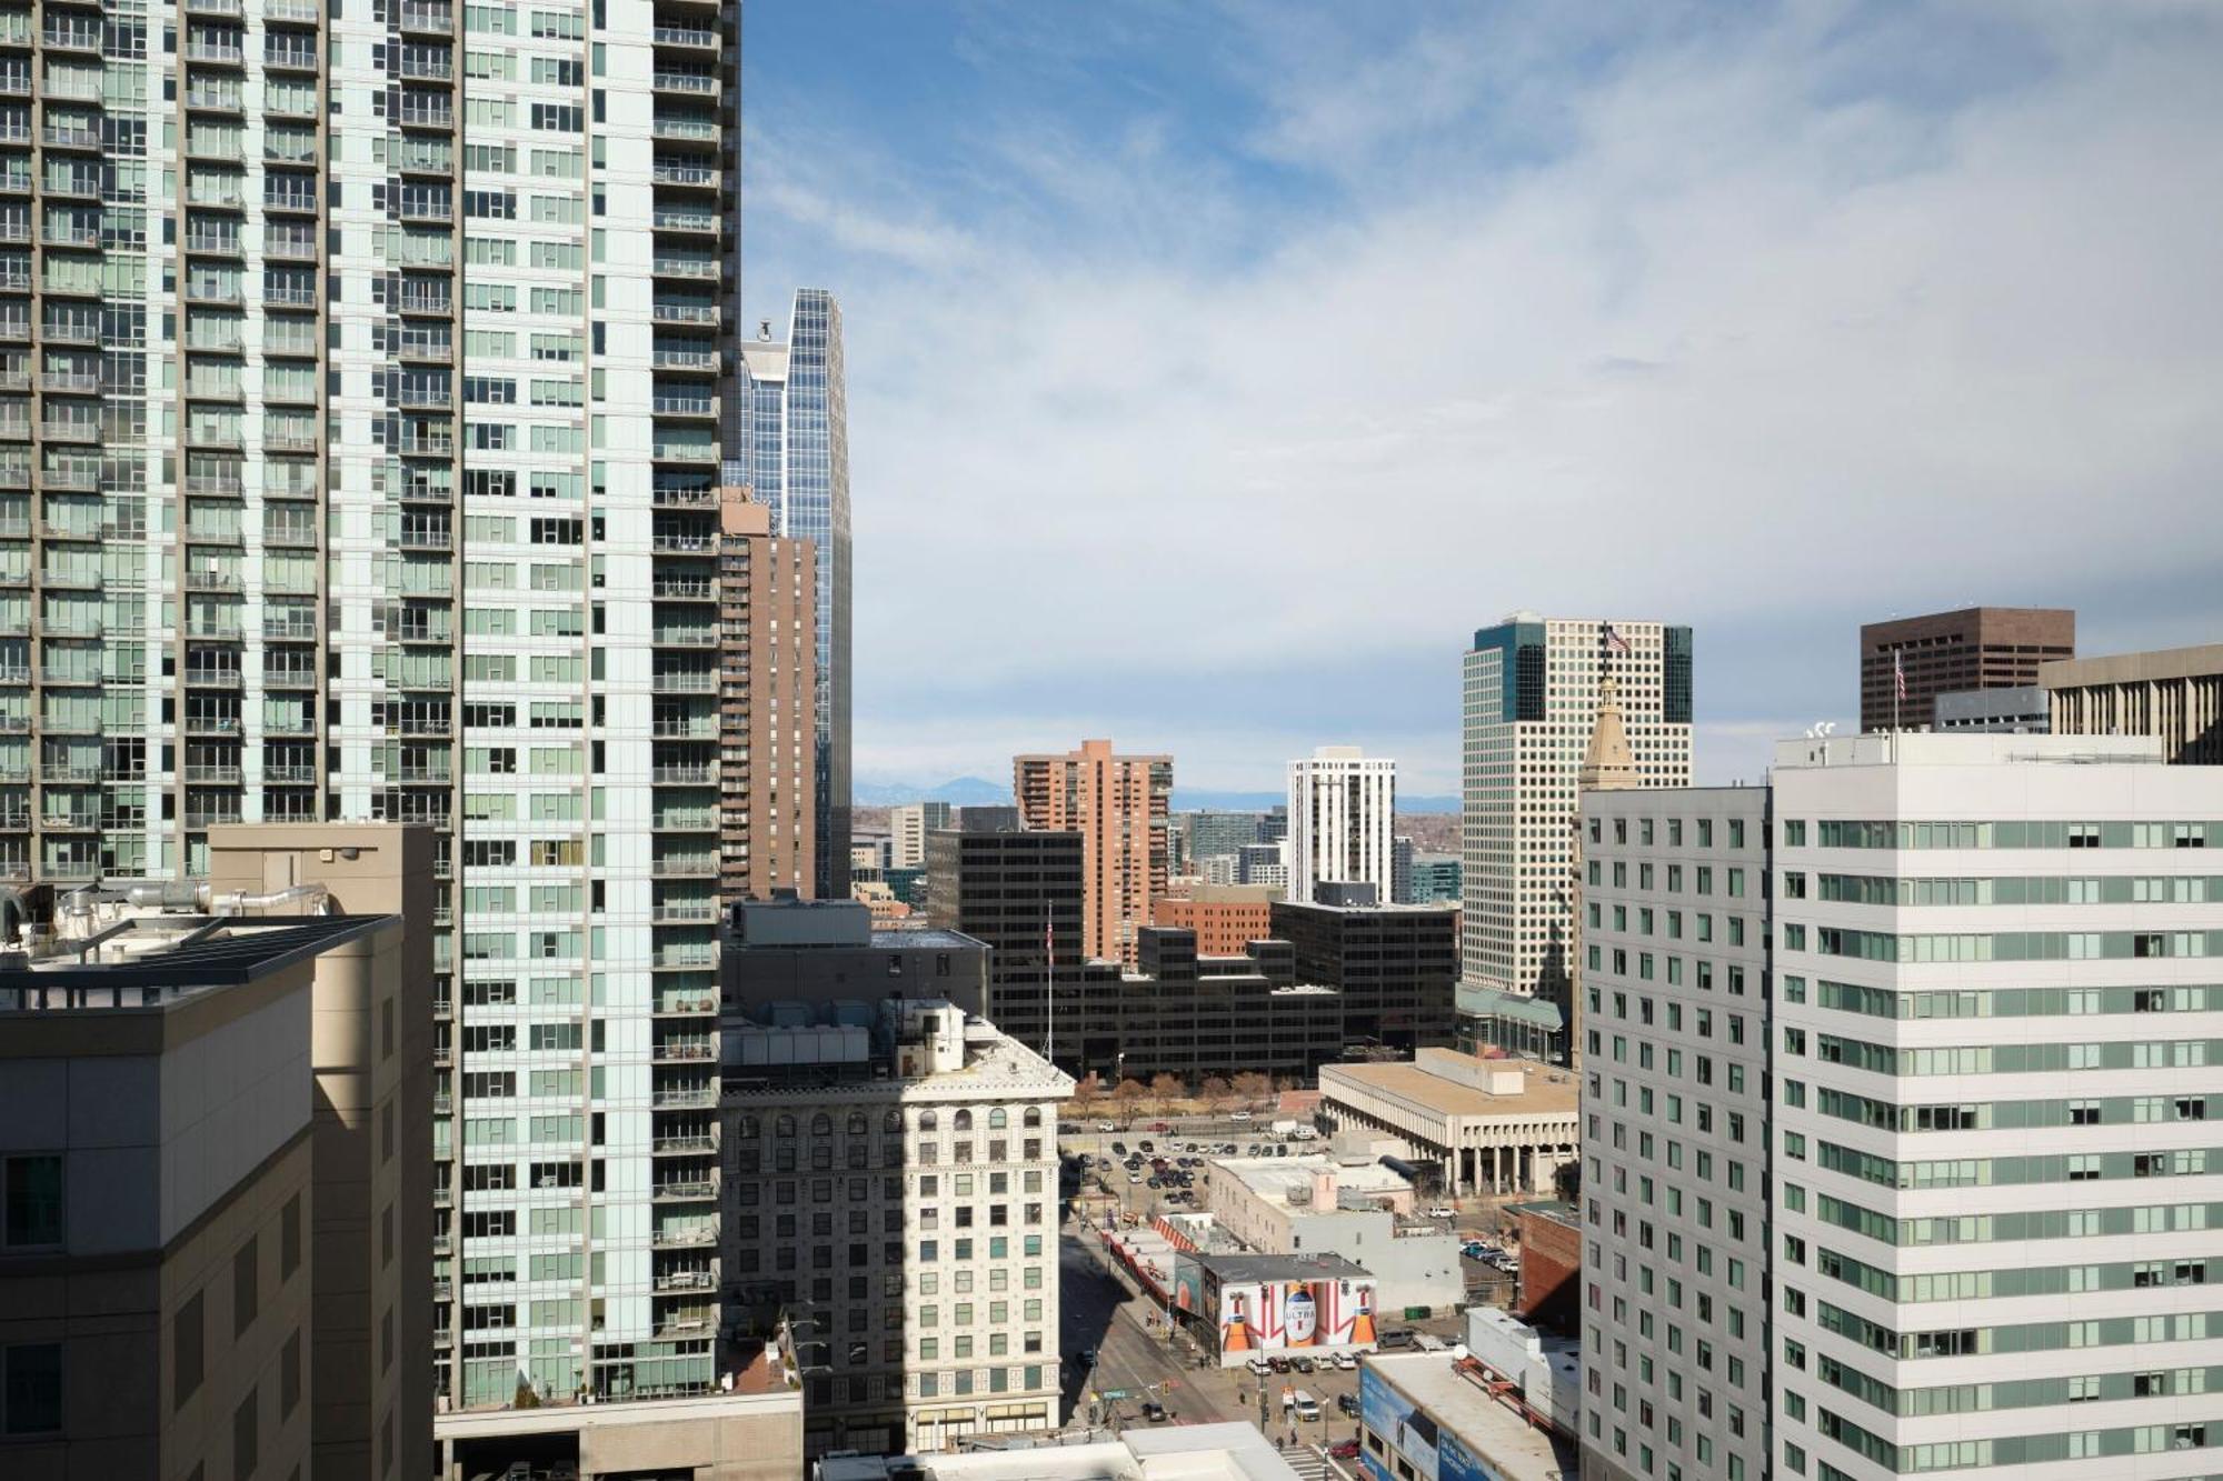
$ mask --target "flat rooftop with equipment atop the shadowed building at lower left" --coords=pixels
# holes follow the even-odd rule
[[[0,954],[0,1012],[162,1007],[322,956],[393,918],[133,914],[44,956]]]

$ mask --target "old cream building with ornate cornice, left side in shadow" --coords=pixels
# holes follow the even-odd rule
[[[722,1038],[727,1330],[794,1343],[805,1452],[1056,1430],[1071,1076],[947,1001],[798,1012],[751,978]]]

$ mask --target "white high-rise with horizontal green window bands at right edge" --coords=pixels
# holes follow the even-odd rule
[[[1774,827],[1774,1474],[2223,1470],[2223,772],[1794,740]]]

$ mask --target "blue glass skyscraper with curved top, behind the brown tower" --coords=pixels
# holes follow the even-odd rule
[[[765,327],[769,336],[769,325]],[[818,543],[818,898],[849,898],[849,407],[840,305],[796,289],[787,342],[742,345],[742,476],[771,531]]]

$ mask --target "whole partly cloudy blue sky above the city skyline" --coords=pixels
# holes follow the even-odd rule
[[[865,783],[1112,736],[1458,789],[1461,652],[2223,638],[2223,7],[747,0],[745,302],[843,302]]]

